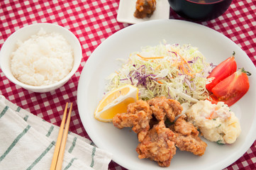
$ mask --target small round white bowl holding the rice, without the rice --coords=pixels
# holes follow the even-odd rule
[[[11,73],[11,52],[15,50],[16,48],[16,42],[17,40],[28,40],[31,35],[35,35],[38,33],[40,28],[43,28],[46,33],[60,33],[66,40],[69,42],[69,45],[71,45],[73,49],[74,54],[74,63],[73,68],[67,76],[58,81],[55,84],[50,84],[47,86],[30,86],[28,84],[23,84],[21,81],[18,81],[15,77],[13,77],[13,74]],[[25,26],[19,30],[16,30],[15,33],[11,34],[9,38],[4,42],[4,45],[1,47],[0,52],[0,66],[2,72],[4,72],[5,76],[12,81],[14,84],[23,87],[24,89],[27,89],[29,91],[33,92],[39,92],[44,93],[48,91],[53,91],[55,89],[60,88],[63,86],[72,76],[75,72],[77,72],[77,69],[79,68],[79,65],[82,60],[82,48],[79,43],[79,40],[77,40],[76,36],[67,30],[67,28],[64,28],[62,26],[58,26],[53,23],[34,23],[29,26]]]

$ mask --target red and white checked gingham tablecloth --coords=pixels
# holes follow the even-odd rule
[[[77,85],[91,53],[106,38],[127,26],[116,21],[119,0],[0,1],[0,47],[19,28],[32,23],[55,23],[77,36],[82,45],[82,62],[76,74],[60,89],[38,94],[22,89],[0,71],[0,94],[44,120],[60,125],[66,102],[73,102],[70,131],[89,138],[79,118]],[[199,24],[217,30],[244,50],[256,66],[256,1],[234,0],[222,16]],[[170,9],[169,18],[184,20]],[[256,142],[226,169],[256,169]],[[108,169],[125,169],[111,162]]]

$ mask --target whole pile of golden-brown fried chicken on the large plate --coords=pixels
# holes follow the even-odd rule
[[[128,105],[126,113],[113,118],[116,128],[129,127],[138,134],[138,157],[151,159],[159,166],[167,167],[176,154],[176,147],[182,151],[203,155],[207,144],[199,137],[199,131],[187,122],[179,101],[155,97],[148,101],[138,100]],[[175,118],[178,116],[176,121]],[[166,120],[172,125],[165,125]]]

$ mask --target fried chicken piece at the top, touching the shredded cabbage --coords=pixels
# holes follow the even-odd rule
[[[165,96],[155,97],[148,100],[148,104],[157,120],[166,120],[168,118],[171,122],[175,117],[182,113],[182,105],[179,101],[168,99]]]

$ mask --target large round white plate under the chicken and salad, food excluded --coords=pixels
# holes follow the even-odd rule
[[[169,43],[191,44],[199,47],[208,62],[218,64],[232,55],[238,67],[244,67],[250,76],[250,89],[231,110],[240,118],[242,133],[233,145],[217,145],[207,142],[204,156],[189,152],[174,155],[166,169],[223,169],[239,159],[255,141],[256,130],[256,69],[243,50],[221,33],[196,23],[176,20],[159,20],[128,26],[111,35],[87,60],[79,79],[77,103],[79,115],[91,140],[101,149],[113,153],[113,161],[127,169],[162,169],[149,159],[138,159],[135,133],[126,128],[119,130],[112,123],[94,119],[94,109],[104,94],[105,78],[121,65],[117,58],[128,59],[131,52],[140,51],[146,45],[158,45],[163,39]]]

